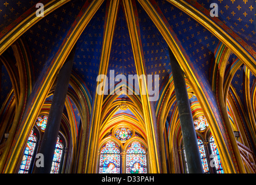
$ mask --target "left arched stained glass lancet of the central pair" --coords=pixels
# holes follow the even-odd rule
[[[120,149],[112,141],[100,151],[99,173],[120,173]]]

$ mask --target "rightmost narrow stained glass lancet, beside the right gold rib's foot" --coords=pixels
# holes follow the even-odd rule
[[[211,158],[214,158],[214,166],[217,173],[224,173],[222,165],[221,165],[221,158],[219,157],[219,151],[217,149],[217,145],[214,141],[213,136],[210,138],[210,146],[211,146]]]

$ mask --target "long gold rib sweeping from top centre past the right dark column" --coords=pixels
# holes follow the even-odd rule
[[[193,72],[193,69],[190,67],[188,63],[188,58],[186,58],[184,51],[179,46],[178,42],[175,40],[174,35],[171,33],[171,28],[169,29],[167,25],[165,24],[164,20],[161,18],[161,16],[157,13],[157,11],[154,9],[153,5],[146,1],[146,0],[138,0],[140,5],[142,5],[143,9],[145,9],[146,13],[149,15],[149,17],[152,19],[153,23],[158,28],[159,32],[167,42],[168,46],[172,50],[172,53],[174,53],[177,61],[181,65],[181,68],[185,72],[186,77],[189,79],[190,84],[192,85],[193,90],[195,91],[197,98],[199,99],[200,105],[202,106],[202,109],[204,110],[204,115],[207,117],[207,120],[209,122],[212,135],[214,136],[216,142],[219,144],[218,149],[220,150],[221,160],[225,161],[226,164],[223,164],[223,169],[225,173],[235,173],[234,165],[232,162],[232,159],[230,158],[230,154],[228,151],[228,148],[225,144],[225,140],[223,139],[222,132],[219,128],[219,125],[217,124],[217,120],[215,118],[214,113],[212,112],[210,102],[208,102],[207,97],[205,96],[205,93],[197,80],[197,77],[195,73]],[[166,20],[166,19],[165,19]],[[225,133],[224,133],[225,134]],[[224,160],[225,159],[225,160]],[[230,166],[230,167],[227,167]],[[231,169],[231,171],[230,171]]]

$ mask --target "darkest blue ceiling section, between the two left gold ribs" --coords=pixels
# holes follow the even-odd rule
[[[72,1],[63,5],[30,28],[24,34],[34,62],[35,79],[49,67],[56,51],[71,28],[84,1]]]

